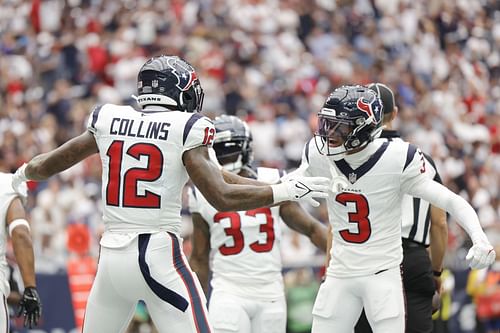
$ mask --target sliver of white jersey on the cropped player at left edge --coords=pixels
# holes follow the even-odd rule
[[[5,258],[7,247],[7,210],[18,195],[12,189],[12,174],[0,172],[0,291],[7,297],[10,292],[9,266]]]

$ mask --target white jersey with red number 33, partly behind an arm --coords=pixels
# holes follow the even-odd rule
[[[278,170],[272,170],[278,174]],[[273,178],[269,172],[259,168],[258,180]],[[192,188],[189,208],[191,213],[200,214],[210,229],[214,289],[259,299],[283,296],[279,206],[218,212],[198,189]]]

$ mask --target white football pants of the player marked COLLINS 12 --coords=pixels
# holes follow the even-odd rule
[[[101,247],[83,333],[120,333],[146,303],[160,333],[209,333],[206,299],[172,233],[141,234],[129,245]]]

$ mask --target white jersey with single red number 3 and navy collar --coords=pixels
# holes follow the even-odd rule
[[[407,142],[376,140],[357,154],[366,151],[373,154],[353,170],[345,159],[321,155],[314,139],[304,150],[305,175],[341,175],[348,180],[347,187],[330,192],[327,199],[333,233],[330,276],[363,276],[399,266],[403,194],[428,180],[423,154]]]

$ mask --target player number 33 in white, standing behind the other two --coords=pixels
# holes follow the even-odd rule
[[[252,136],[235,116],[214,120],[214,150],[224,169],[243,177],[275,183],[277,169],[251,168]],[[193,214],[193,251],[189,263],[208,292],[209,317],[216,333],[284,333],[286,300],[280,255],[280,220],[326,250],[326,227],[299,204],[219,212],[196,188],[189,193]],[[210,252],[213,254],[209,268]]]

